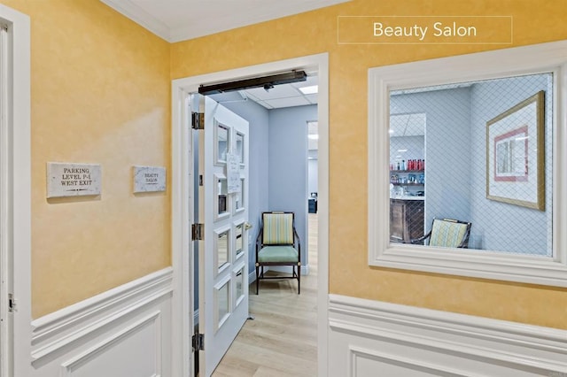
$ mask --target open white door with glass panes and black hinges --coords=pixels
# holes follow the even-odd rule
[[[198,331],[205,349],[199,375],[208,377],[248,318],[248,121],[206,97],[204,133]]]

